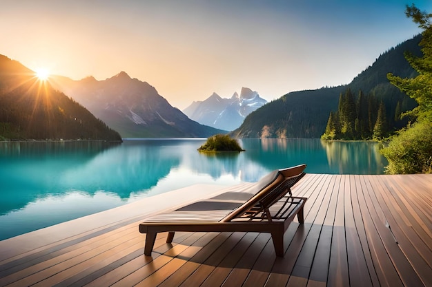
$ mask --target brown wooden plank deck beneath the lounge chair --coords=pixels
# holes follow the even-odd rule
[[[432,175],[307,174],[293,193],[284,258],[264,233],[161,233],[145,257],[131,217],[1,253],[0,286],[432,286]]]

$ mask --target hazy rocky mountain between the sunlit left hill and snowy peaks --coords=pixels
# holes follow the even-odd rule
[[[55,86],[88,108],[123,138],[208,137],[226,133],[200,125],[157,93],[155,87],[126,72],[97,81],[55,77]]]

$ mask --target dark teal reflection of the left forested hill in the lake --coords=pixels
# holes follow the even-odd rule
[[[47,193],[62,194],[63,173],[117,146],[108,142],[0,142],[0,214],[20,209]]]

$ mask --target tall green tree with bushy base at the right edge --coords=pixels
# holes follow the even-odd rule
[[[420,11],[415,5],[406,6],[406,17],[423,29],[422,57],[406,52],[405,58],[417,72],[415,78],[400,78],[389,73],[390,83],[413,98],[418,107],[402,113],[413,116],[415,122],[397,132],[382,154],[389,161],[388,173],[432,172],[432,14]]]

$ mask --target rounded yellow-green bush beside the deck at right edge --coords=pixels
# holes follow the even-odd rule
[[[387,173],[432,173],[432,123],[402,129],[381,152],[389,161]]]

